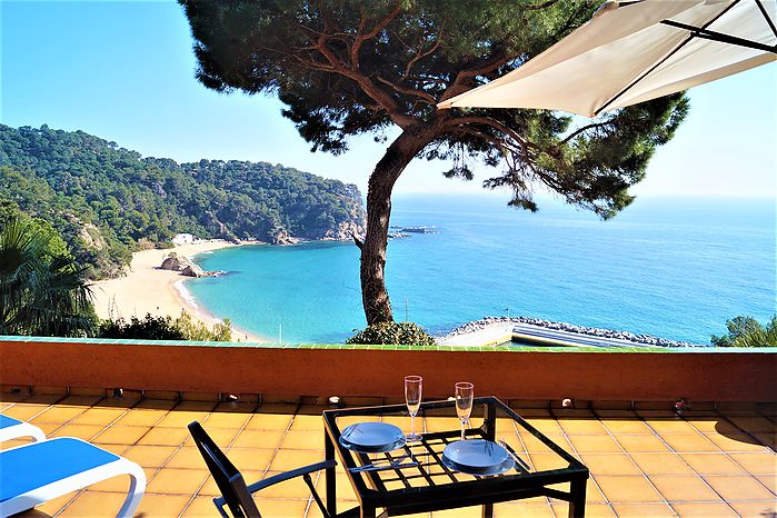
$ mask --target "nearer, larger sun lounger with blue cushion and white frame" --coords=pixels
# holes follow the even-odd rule
[[[0,468],[3,518],[118,475],[130,476],[130,488],[117,516],[131,517],[146,491],[140,466],[70,437],[0,451]]]

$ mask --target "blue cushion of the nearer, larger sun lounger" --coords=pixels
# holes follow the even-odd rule
[[[118,455],[68,437],[0,452],[0,501],[119,460]]]

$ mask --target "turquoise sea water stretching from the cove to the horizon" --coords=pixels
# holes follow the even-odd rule
[[[522,315],[708,343],[725,321],[774,312],[775,201],[638,199],[610,221],[560,202],[538,213],[494,196],[399,197],[391,223],[439,233],[389,241],[395,318],[444,333]],[[200,256],[201,306],[285,342],[341,342],[365,325],[352,243],[251,246]],[[282,335],[282,336],[281,336]]]

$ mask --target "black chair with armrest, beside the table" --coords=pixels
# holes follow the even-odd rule
[[[216,446],[213,439],[202,429],[202,426],[193,421],[189,424],[189,432],[195,439],[197,448],[200,450],[205,464],[208,465],[210,474],[216,479],[216,484],[219,486],[221,491],[221,497],[213,498],[213,504],[216,504],[217,509],[222,517],[229,518],[229,515],[225,511],[225,506],[229,507],[235,518],[261,518],[259,509],[253,501],[251,495],[265,489],[270,486],[275,486],[278,482],[283,482],[286,480],[291,480],[292,478],[302,477],[305,482],[310,488],[310,491],[316,499],[316,504],[321,509],[321,512],[327,518],[333,518],[328,511],[321,497],[318,496],[316,487],[313,486],[310,474],[320,471],[321,469],[333,468],[337,462],[333,460],[325,460],[323,462],[317,462],[303,468],[298,468],[292,471],[287,471],[285,474],[276,475],[275,477],[266,478],[265,480],[259,480],[258,482],[246,485],[240,471],[235,467],[232,462],[227,458],[227,456]],[[358,517],[359,508],[352,508],[345,512],[338,512],[335,518],[350,518]]]

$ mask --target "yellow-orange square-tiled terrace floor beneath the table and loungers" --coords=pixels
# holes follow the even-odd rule
[[[30,421],[49,437],[80,437],[141,465],[148,476],[140,507],[145,517],[216,516],[216,485],[186,428],[192,420],[202,422],[249,481],[323,457],[320,407],[12,394],[1,399],[2,414]],[[519,414],[589,467],[587,516],[777,516],[774,409],[691,411],[684,418],[663,410]],[[428,417],[424,426],[438,430],[458,421]],[[534,467],[546,467],[551,456],[509,427],[500,436]],[[16,444],[2,448],[10,446]],[[317,484],[322,490],[322,476]],[[126,477],[116,478],[27,516],[112,516],[127,486]],[[266,517],[320,516],[301,480],[261,497]],[[339,475],[338,498],[340,509],[356,505],[345,474]],[[566,502],[548,498],[497,506],[500,517],[566,514]],[[454,516],[479,516],[479,510],[434,514]]]

